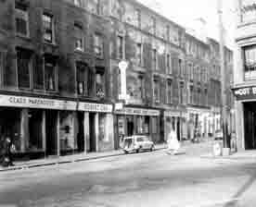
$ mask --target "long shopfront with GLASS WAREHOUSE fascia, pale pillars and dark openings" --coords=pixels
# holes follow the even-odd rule
[[[0,95],[0,133],[30,159],[113,150],[112,105]]]

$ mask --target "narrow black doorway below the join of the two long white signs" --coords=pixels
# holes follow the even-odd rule
[[[78,112],[78,133],[77,133],[77,148],[78,152],[84,152],[84,113]]]

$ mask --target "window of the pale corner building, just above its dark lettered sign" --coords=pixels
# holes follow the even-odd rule
[[[256,79],[256,45],[244,47],[243,50],[245,79]]]

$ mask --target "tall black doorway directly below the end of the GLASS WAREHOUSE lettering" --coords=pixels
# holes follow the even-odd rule
[[[46,155],[58,155],[58,111],[45,111]]]

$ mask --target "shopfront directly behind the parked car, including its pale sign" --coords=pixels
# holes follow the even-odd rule
[[[147,135],[160,142],[160,111],[155,109],[124,107],[115,111],[115,149],[122,147],[126,136]]]

